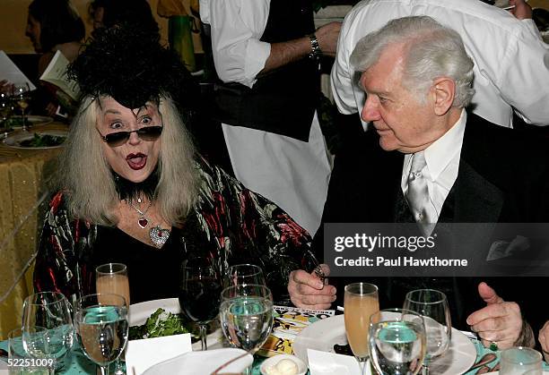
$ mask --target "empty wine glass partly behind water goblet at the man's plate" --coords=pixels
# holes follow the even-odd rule
[[[413,290],[406,294],[403,308],[423,316],[427,336],[423,374],[429,374],[430,363],[448,351],[451,340],[452,323],[446,294],[434,289]]]

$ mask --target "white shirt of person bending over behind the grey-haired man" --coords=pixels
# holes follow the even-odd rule
[[[347,14],[331,73],[339,111],[362,110],[364,92],[349,64],[360,38],[388,21],[429,15],[456,30],[474,62],[473,112],[502,126],[512,126],[512,108],[527,123],[549,124],[549,46],[532,20],[518,20],[480,0],[362,0]]]

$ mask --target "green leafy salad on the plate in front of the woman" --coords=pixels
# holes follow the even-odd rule
[[[163,309],[158,309],[144,322],[144,325],[129,328],[129,339],[137,340],[141,338],[179,335],[181,333],[192,332],[192,330],[190,322],[182,314],[173,314]]]

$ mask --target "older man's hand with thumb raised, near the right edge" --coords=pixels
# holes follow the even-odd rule
[[[522,330],[522,315],[517,303],[506,303],[486,283],[478,285],[478,294],[486,307],[473,312],[467,324],[482,338],[483,345],[497,343],[499,349],[514,346]]]

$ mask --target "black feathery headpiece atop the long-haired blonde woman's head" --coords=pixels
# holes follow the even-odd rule
[[[134,23],[92,32],[68,75],[83,95],[109,96],[128,108],[170,96],[184,120],[199,97],[196,81],[179,57],[160,44],[160,35]]]

